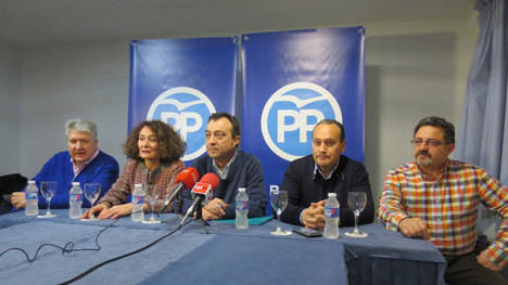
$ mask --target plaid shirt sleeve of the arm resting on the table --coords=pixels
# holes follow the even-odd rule
[[[398,223],[408,218],[404,210],[402,177],[397,170],[391,170],[384,178],[383,193],[379,203],[378,217],[388,230],[398,231]]]

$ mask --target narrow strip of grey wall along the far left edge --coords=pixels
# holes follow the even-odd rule
[[[20,171],[20,53],[0,43],[0,174]]]

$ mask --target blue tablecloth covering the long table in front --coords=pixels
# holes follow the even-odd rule
[[[54,210],[52,219],[24,212],[0,216],[0,252],[25,249],[30,258],[39,245],[51,243],[74,249],[94,249],[96,237],[112,220],[68,219],[67,210]],[[122,218],[98,238],[100,250],[62,254],[45,246],[29,263],[20,251],[0,256],[4,284],[56,284],[113,257],[129,252],[167,234],[180,217],[162,215],[161,224]],[[293,226],[282,224],[287,230]],[[250,225],[191,222],[154,246],[91,272],[75,284],[444,284],[446,262],[429,242],[403,237],[369,224],[366,238],[351,238],[341,229],[339,239],[307,238],[292,234],[274,236],[276,221]]]

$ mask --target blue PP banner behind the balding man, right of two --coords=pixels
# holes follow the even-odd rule
[[[312,154],[323,118],[343,122],[345,155],[364,161],[364,27],[242,36],[242,147],[277,187],[289,161]]]

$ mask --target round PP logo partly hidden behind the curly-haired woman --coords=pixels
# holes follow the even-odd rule
[[[204,131],[206,120],[213,113],[214,105],[201,91],[190,87],[176,87],[164,91],[153,101],[147,119],[158,119],[173,126],[187,142],[182,159],[188,161],[206,151]]]

